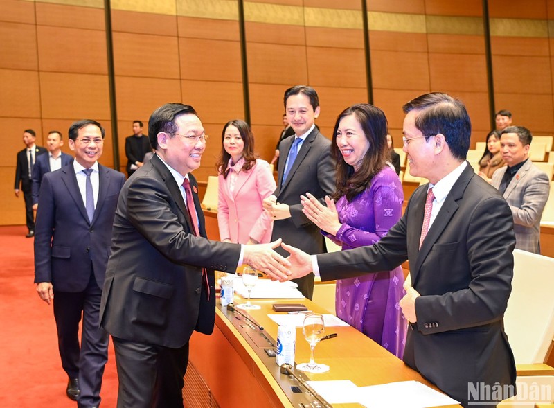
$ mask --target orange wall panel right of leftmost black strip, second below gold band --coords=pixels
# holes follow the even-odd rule
[[[179,79],[177,37],[136,33],[113,37],[116,75]]]

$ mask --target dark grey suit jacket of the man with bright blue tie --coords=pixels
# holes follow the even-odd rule
[[[277,202],[289,205],[291,217],[274,222],[272,239],[283,238],[287,244],[308,254],[321,254],[325,252],[323,236],[319,227],[308,220],[302,212],[300,195],[312,193],[314,197],[321,199],[334,193],[336,171],[335,161],[331,157],[331,142],[314,127],[303,141],[294,166],[283,183],[285,163],[293,142],[294,137],[288,137],[279,145],[281,160],[278,167],[277,190],[274,193]],[[280,247],[276,251],[284,256],[288,254]]]

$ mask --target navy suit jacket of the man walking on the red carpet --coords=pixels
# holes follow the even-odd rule
[[[35,226],[35,283],[51,282],[60,292],[81,292],[91,268],[102,287],[110,254],[111,225],[125,176],[98,165],[99,191],[94,218],[87,210],[73,164],[42,178]]]

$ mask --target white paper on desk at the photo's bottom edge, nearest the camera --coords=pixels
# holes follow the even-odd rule
[[[460,403],[418,381],[359,387],[358,402],[368,408],[426,408]]]

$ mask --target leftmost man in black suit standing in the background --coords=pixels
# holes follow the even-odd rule
[[[25,200],[25,218],[28,228],[27,238],[35,236],[35,215],[33,214],[33,197],[31,194],[31,175],[35,161],[40,154],[46,153],[45,148],[35,145],[37,134],[33,129],[23,132],[23,143],[26,148],[17,153],[17,165],[15,167],[15,197],[19,197],[19,191],[23,191]]]

